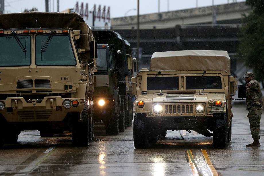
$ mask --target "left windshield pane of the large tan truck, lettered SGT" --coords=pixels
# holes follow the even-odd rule
[[[31,37],[29,35],[18,35],[18,38],[27,49],[27,52],[23,52],[14,36],[0,37],[0,67],[30,65]]]

